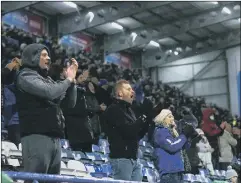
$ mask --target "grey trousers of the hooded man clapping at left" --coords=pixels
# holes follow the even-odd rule
[[[33,134],[21,138],[25,172],[60,174],[60,139]]]

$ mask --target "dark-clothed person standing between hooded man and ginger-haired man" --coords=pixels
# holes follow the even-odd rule
[[[73,109],[64,109],[66,131],[74,151],[91,152],[101,133],[99,114],[105,106],[99,105],[92,82],[85,82],[88,71],[77,78],[77,102]]]

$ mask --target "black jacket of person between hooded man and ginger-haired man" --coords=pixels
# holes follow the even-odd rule
[[[73,109],[64,108],[66,132],[70,144],[92,143],[98,133],[100,106],[93,94],[77,87],[77,101]],[[96,119],[97,118],[97,119]],[[96,127],[97,126],[97,127]]]

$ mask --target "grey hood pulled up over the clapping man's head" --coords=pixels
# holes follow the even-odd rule
[[[26,46],[22,53],[22,66],[39,67],[40,55],[43,49],[47,50],[50,57],[50,51],[45,45],[34,43]]]

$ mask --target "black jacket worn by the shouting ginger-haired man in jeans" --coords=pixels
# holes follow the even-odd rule
[[[123,100],[115,100],[104,113],[106,134],[110,143],[111,158],[136,159],[138,141],[144,122],[136,119],[131,105]]]

